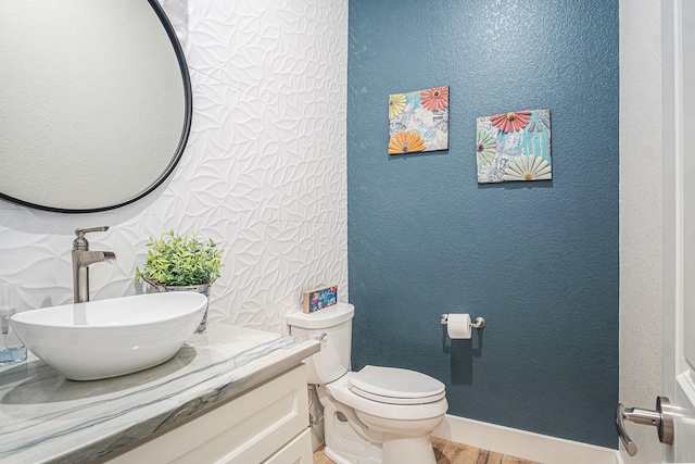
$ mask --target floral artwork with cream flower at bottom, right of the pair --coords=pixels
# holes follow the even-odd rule
[[[551,110],[525,110],[478,117],[478,184],[553,178]]]

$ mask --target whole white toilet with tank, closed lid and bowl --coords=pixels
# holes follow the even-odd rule
[[[444,384],[393,367],[351,372],[354,313],[338,303],[287,317],[292,335],[321,341],[306,372],[324,405],[326,455],[339,464],[434,464],[430,434],[448,407]]]

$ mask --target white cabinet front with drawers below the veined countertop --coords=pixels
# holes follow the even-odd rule
[[[304,364],[134,444],[106,462],[312,464]]]

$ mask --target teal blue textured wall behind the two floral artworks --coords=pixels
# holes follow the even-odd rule
[[[616,448],[618,1],[350,1],[353,368],[448,413]],[[450,149],[389,155],[390,93],[450,86]],[[478,185],[476,117],[549,108],[553,180]],[[646,117],[646,115],[634,115]],[[483,316],[450,340],[442,313]]]

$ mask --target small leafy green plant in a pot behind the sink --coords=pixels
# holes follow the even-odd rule
[[[198,233],[184,236],[174,229],[150,237],[148,259],[142,269],[136,267],[136,279],[147,281],[156,291],[197,291],[210,297],[210,288],[219,277],[222,250],[208,239],[202,241]],[[207,327],[207,309],[197,333]]]

